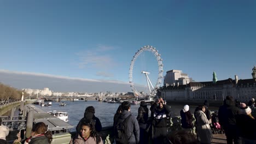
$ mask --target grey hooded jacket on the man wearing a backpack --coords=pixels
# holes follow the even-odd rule
[[[118,122],[123,122],[124,119],[126,117],[128,117],[129,115],[131,115],[131,112],[124,110],[121,115],[118,117]],[[117,123],[118,123],[117,122]],[[138,121],[136,119],[135,116],[131,116],[129,117],[129,119],[127,119],[127,131],[126,134],[128,136],[131,136],[129,143],[133,144],[133,143],[139,143],[139,125],[138,125]]]

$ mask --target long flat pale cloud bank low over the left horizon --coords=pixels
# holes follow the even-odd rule
[[[50,88],[55,92],[130,92],[130,83],[118,80],[93,80],[50,74],[0,69],[0,82],[16,88]],[[136,85],[137,89],[144,89]],[[139,91],[139,90],[138,90]]]

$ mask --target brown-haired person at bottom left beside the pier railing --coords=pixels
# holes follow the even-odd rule
[[[31,130],[31,137],[28,137],[25,144],[49,144],[53,141],[51,131],[47,131],[47,127],[43,122],[39,122],[33,125]]]

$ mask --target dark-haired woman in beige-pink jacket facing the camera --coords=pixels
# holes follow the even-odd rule
[[[69,144],[103,144],[100,135],[95,130],[95,121],[92,119],[81,121],[79,131]]]

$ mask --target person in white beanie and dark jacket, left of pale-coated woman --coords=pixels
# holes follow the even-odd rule
[[[193,115],[190,113],[189,111],[189,105],[184,105],[184,108],[181,110],[181,124],[182,124],[182,128],[184,130],[193,132]]]

